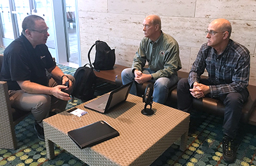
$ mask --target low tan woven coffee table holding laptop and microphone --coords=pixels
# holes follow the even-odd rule
[[[90,166],[150,165],[179,138],[180,149],[186,149],[189,128],[189,114],[186,112],[153,103],[155,114],[145,116],[141,114],[145,103],[132,94],[128,95],[127,102],[108,114],[84,109],[83,105],[77,108],[89,114],[81,119],[67,111],[44,119],[47,158],[54,158],[54,143]],[[113,126],[120,136],[80,149],[67,135],[70,130],[100,120]]]

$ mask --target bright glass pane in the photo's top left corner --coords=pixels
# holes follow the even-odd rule
[[[0,0],[0,10],[1,20],[3,24],[3,38],[9,38],[14,40],[9,2],[6,0]]]

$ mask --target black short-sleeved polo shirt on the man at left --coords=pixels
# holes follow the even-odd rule
[[[56,66],[45,44],[34,49],[28,39],[21,34],[4,50],[0,80],[8,82],[9,90],[20,89],[17,80],[30,80],[48,86],[45,69]]]

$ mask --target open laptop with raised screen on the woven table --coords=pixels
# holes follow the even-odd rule
[[[124,86],[118,87],[114,91],[111,91],[111,93],[104,94],[100,98],[97,98],[96,100],[87,103],[86,105],[84,105],[84,107],[86,109],[96,110],[102,114],[105,114],[117,105],[125,102],[131,86],[132,82]]]

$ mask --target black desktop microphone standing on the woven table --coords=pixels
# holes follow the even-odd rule
[[[145,94],[142,96],[142,101],[143,103],[145,103],[145,107],[143,110],[141,110],[141,113],[143,115],[147,115],[150,116],[152,114],[154,114],[154,110],[152,110],[152,103],[153,103],[153,85],[152,84],[148,84],[146,89],[145,89]],[[150,109],[147,109],[147,105],[150,105]]]

